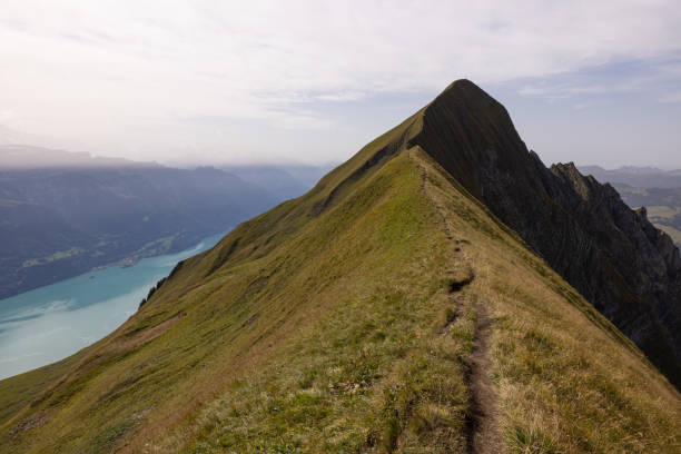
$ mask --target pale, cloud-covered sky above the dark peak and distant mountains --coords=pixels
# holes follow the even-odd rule
[[[678,0],[0,8],[0,144],[339,162],[461,78],[506,106],[545,164],[681,168]]]

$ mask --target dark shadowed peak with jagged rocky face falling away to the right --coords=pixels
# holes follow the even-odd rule
[[[644,210],[573,164],[547,169],[505,108],[467,80],[424,109],[413,142],[681,385],[681,258]]]

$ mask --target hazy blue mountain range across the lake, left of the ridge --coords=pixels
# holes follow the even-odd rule
[[[184,249],[313,185],[276,167],[233,170],[244,178],[0,146],[0,298]]]

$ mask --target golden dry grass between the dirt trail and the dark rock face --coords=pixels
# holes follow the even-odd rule
[[[513,234],[491,241],[456,216],[460,198],[441,197],[478,264],[470,292],[495,320],[491,373],[510,451],[679,452],[681,402],[667,379]]]

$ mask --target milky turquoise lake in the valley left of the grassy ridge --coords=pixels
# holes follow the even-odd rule
[[[177,254],[86,273],[0,300],[0,379],[62,359],[111,333],[179,260],[213,247],[224,235]]]

